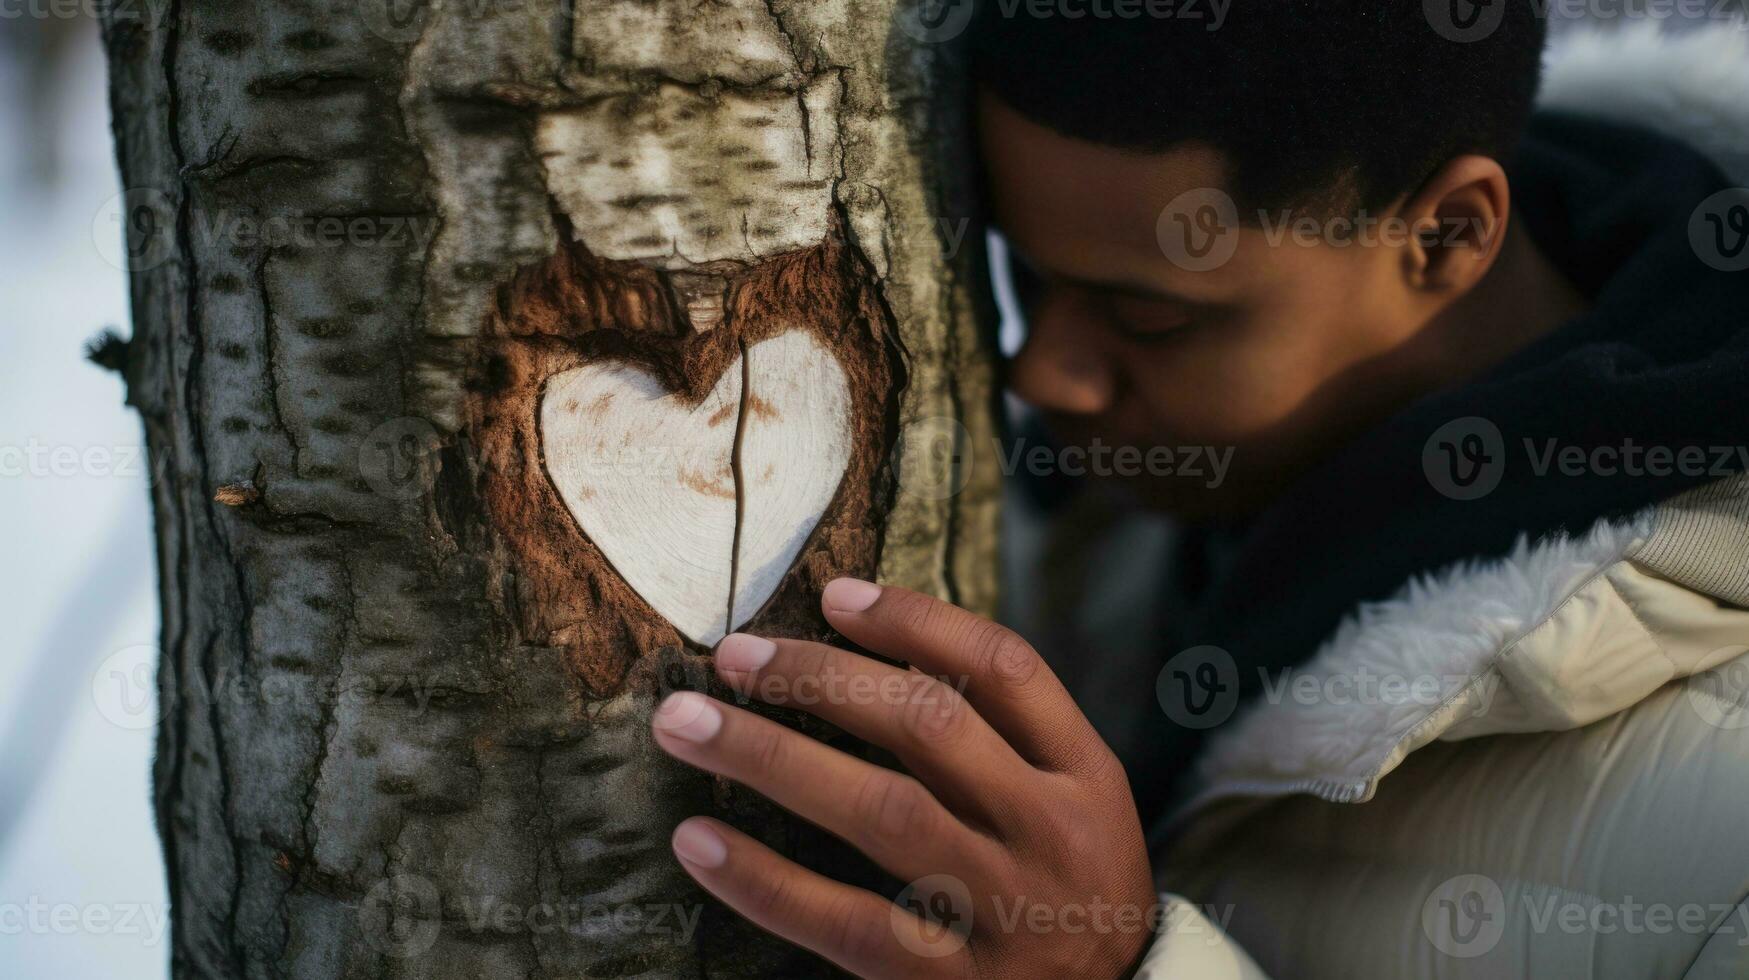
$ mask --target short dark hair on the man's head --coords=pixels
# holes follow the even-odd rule
[[[1455,156],[1506,161],[1546,35],[1532,0],[1233,0],[1217,30],[1210,0],[964,2],[974,77],[999,100],[1093,144],[1209,144],[1249,208],[1376,208]],[[1436,24],[1471,2],[1495,18],[1485,35]],[[1191,9],[1205,18],[1158,16]]]

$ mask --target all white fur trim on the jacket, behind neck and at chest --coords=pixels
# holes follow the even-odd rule
[[[1749,184],[1746,96],[1749,21],[1691,32],[1641,21],[1558,35],[1544,58],[1539,103],[1684,140]],[[1648,511],[1602,522],[1583,537],[1520,539],[1501,560],[1420,576],[1390,600],[1359,607],[1308,663],[1272,677],[1263,696],[1210,738],[1198,763],[1202,791],[1181,816],[1237,794],[1362,802],[1417,747],[1485,732],[1466,723],[1497,695],[1560,690],[1567,677],[1543,676],[1546,665],[1534,658],[1508,676],[1501,656],[1634,555],[1651,530]]]

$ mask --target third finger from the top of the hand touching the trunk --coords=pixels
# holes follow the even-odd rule
[[[962,824],[909,775],[698,691],[668,695],[651,728],[668,754],[757,791],[899,878],[993,866],[995,842]]]

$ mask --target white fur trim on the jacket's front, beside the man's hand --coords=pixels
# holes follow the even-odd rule
[[[1261,698],[1210,738],[1196,803],[1282,793],[1371,798],[1408,752],[1488,710],[1502,693],[1499,656],[1630,556],[1651,527],[1646,511],[1599,522],[1583,537],[1520,539],[1504,558],[1418,576],[1396,597],[1361,606],[1310,662],[1270,677]]]

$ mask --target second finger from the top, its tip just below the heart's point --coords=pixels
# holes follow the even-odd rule
[[[948,807],[995,822],[1027,798],[1037,774],[958,691],[827,644],[731,634],[717,644],[717,674],[766,704],[799,707],[880,746]]]

